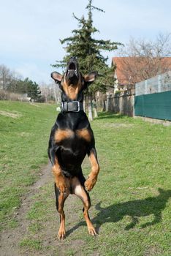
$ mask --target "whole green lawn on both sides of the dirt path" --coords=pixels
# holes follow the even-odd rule
[[[39,178],[39,167],[47,162],[47,140],[56,111],[50,105],[36,107],[19,102],[0,102],[0,106],[21,115],[0,116],[2,227],[15,230],[12,213],[20,207],[20,196]],[[32,197],[25,216],[27,231],[18,241],[21,252],[54,256],[171,255],[171,127],[113,113],[99,113],[91,127],[101,170],[90,193],[90,216],[99,235],[88,235],[82,203],[72,196],[65,207],[67,237],[56,240],[58,215],[50,181]],[[87,176],[87,161],[83,170]]]

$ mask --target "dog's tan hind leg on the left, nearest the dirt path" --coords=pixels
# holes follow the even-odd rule
[[[56,192],[56,209],[60,214],[60,227],[58,230],[58,239],[64,239],[66,236],[65,230],[65,214],[64,214],[64,202],[66,198],[69,196],[69,190],[66,193],[62,193],[58,190],[55,183],[55,192]]]

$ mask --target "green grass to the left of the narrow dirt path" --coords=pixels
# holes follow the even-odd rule
[[[15,226],[12,220],[27,187],[39,178],[47,163],[47,141],[56,116],[55,105],[0,101],[0,222],[1,229]]]

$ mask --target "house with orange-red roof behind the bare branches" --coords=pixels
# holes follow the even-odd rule
[[[115,91],[134,89],[135,83],[171,70],[171,57],[113,57]]]

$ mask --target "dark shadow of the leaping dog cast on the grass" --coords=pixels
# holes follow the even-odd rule
[[[132,222],[126,225],[125,230],[133,228],[139,222],[139,217],[146,217],[153,214],[153,220],[141,225],[142,228],[155,225],[161,222],[161,211],[166,207],[167,200],[171,197],[171,190],[164,190],[159,188],[159,195],[156,197],[148,197],[143,200],[132,200],[125,203],[117,203],[106,208],[102,208],[101,202],[97,203],[96,209],[99,213],[92,219],[96,225],[96,231],[99,233],[99,228],[106,222],[118,222],[123,217],[129,216]],[[66,235],[69,236],[78,227],[86,225],[86,222],[80,222],[72,229],[68,230]]]

